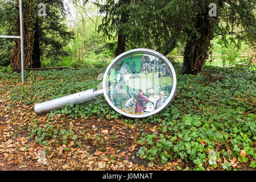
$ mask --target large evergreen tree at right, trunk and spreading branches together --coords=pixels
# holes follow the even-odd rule
[[[209,14],[211,3],[216,5],[217,16]],[[108,4],[105,7],[112,6]],[[110,13],[113,9],[105,10]],[[183,74],[201,72],[208,57],[210,41],[215,36],[226,39],[226,35],[233,35],[255,45],[254,1],[131,0],[119,10],[127,13],[129,20],[125,23],[119,20],[114,27],[122,27],[127,43],[154,48],[164,55],[171,52],[177,42],[185,43]],[[116,11],[111,14],[120,15]],[[111,27],[112,19],[106,21],[104,27]]]

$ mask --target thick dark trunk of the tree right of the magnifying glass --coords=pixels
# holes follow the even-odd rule
[[[184,63],[181,71],[183,74],[196,75],[201,72],[205,60],[208,58],[214,25],[217,26],[217,19],[209,16],[209,4],[210,1],[195,1],[191,4],[191,7],[193,7],[194,11],[197,9],[197,12],[196,14],[194,13],[195,18],[191,19],[193,23],[192,30],[187,30],[188,40],[185,45]],[[220,9],[223,6],[223,1],[219,1],[218,5]]]

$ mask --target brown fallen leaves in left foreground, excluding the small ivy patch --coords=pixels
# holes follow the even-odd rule
[[[129,124],[119,119],[90,117],[72,119],[68,116],[36,115],[34,105],[11,103],[0,96],[0,171],[41,170],[180,170],[194,167],[189,160],[168,160],[166,164],[152,164],[136,156],[142,130],[158,133],[158,125],[151,123]],[[3,112],[4,111],[4,112]],[[86,131],[88,141],[78,147],[77,143],[39,145],[30,138],[28,128],[34,120],[40,123],[59,123],[71,126],[77,132]],[[100,136],[97,138],[96,136]],[[46,152],[46,154],[44,154]],[[246,163],[237,162],[236,169],[253,170]],[[223,170],[221,166],[208,170]]]

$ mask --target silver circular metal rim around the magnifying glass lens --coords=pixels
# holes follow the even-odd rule
[[[112,66],[114,64],[117,64],[119,61],[125,59],[128,56],[136,55],[136,54],[148,54],[148,55],[152,55],[152,56],[156,56],[156,57],[160,58],[168,65],[168,67],[171,69],[171,72],[172,72],[172,80],[173,80],[172,91],[171,91],[170,96],[168,97],[167,101],[158,109],[156,109],[150,113],[146,113],[146,114],[130,114],[130,113],[126,113],[126,112],[122,111],[121,109],[118,109],[118,107],[114,106],[112,104],[112,102],[110,101],[108,92],[107,92],[107,90],[108,90],[107,76],[108,76],[108,72],[110,71]],[[172,66],[171,62],[161,53],[156,52],[151,49],[146,49],[146,48],[131,49],[130,51],[123,52],[121,55],[115,57],[115,59],[109,64],[108,68],[106,69],[106,72],[104,74],[103,81],[102,81],[102,89],[103,89],[104,97],[106,98],[106,101],[108,102],[108,104],[115,111],[117,111],[117,113],[125,115],[126,117],[129,117],[129,118],[146,118],[151,115],[154,115],[154,114],[164,111],[171,104],[171,101],[174,99],[174,96],[176,93],[176,85],[177,85],[176,73],[175,73],[174,67]]]

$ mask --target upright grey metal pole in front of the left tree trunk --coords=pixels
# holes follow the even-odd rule
[[[20,59],[22,72],[22,85],[24,84],[24,49],[23,49],[23,18],[22,18],[22,0],[19,0],[19,26],[20,26]]]

